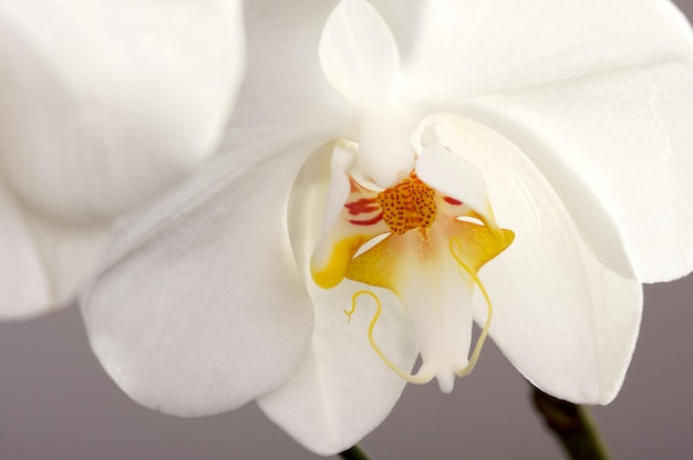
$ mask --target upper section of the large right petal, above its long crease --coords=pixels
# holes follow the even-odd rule
[[[669,1],[439,0],[420,10],[403,94],[427,106],[691,54],[690,25]]]

